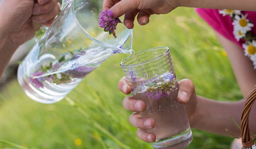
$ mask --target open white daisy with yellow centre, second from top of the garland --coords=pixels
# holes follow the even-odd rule
[[[254,27],[254,25],[252,23],[249,23],[249,20],[246,19],[247,14],[242,14],[241,16],[241,18],[238,15],[235,16],[235,20],[232,23],[232,25],[234,25],[234,29],[241,30],[243,33],[252,30],[252,27]]]

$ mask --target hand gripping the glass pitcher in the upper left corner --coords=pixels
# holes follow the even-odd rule
[[[35,36],[39,23],[49,26],[59,11],[58,0],[2,0],[0,30],[18,47]]]

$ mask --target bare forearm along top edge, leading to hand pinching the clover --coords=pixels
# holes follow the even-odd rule
[[[182,7],[256,11],[255,0],[177,0]]]

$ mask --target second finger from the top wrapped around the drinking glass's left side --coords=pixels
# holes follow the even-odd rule
[[[145,102],[141,100],[135,100],[132,96],[127,96],[123,100],[123,107],[132,112],[141,112],[146,110]]]

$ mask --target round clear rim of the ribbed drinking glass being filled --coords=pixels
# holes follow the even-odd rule
[[[130,58],[132,57],[132,55],[131,55],[131,56],[126,57],[123,61],[121,61],[120,65],[121,65],[121,67],[130,67],[130,66],[145,64],[145,63],[150,62],[150,61],[152,61],[152,60],[158,59],[159,57],[161,57],[161,56],[165,55],[166,53],[170,52],[170,49],[169,49],[168,47],[154,47],[154,48],[150,48],[150,49],[143,50],[143,51],[141,51],[141,52],[135,53],[135,55],[136,55],[136,54],[139,54],[139,53],[142,53],[142,52],[145,52],[145,51],[149,51],[149,50],[153,50],[153,49],[159,49],[159,48],[165,48],[165,49],[167,49],[167,50],[166,50],[164,53],[162,53],[161,55],[159,55],[159,56],[157,56],[157,57],[155,57],[155,58],[152,58],[152,59],[150,59],[150,60],[143,61],[143,62],[138,63],[138,64],[123,65],[123,63],[124,63],[125,61],[127,61],[127,59],[130,59]]]

